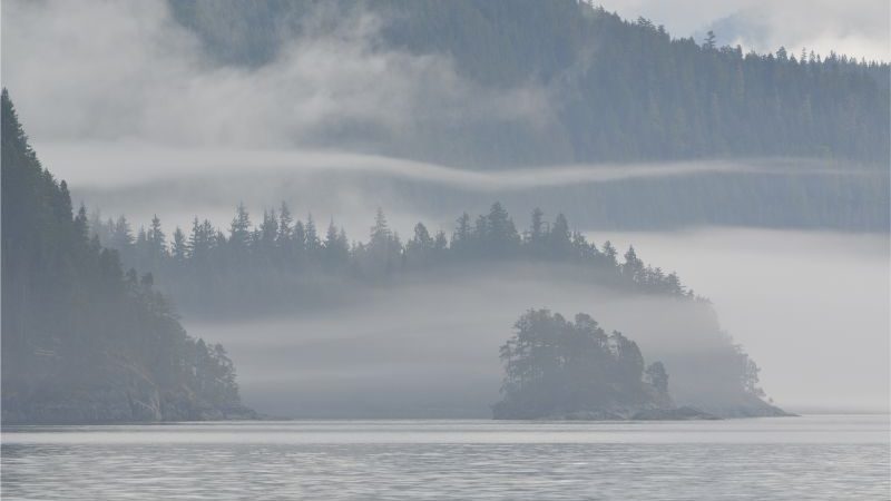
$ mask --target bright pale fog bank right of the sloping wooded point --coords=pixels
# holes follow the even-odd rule
[[[634,243],[715,304],[786,410],[889,409],[888,235],[708,228]]]

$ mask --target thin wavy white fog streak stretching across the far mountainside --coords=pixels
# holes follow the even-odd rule
[[[430,183],[492,193],[535,187],[605,183],[638,177],[685,176],[719,171],[756,171],[757,163],[677,161],[637,165],[559,165],[473,171],[375,155],[326,150],[177,149],[140,143],[41,145],[40,158],[60,177],[88,187],[120,188],[159,180],[244,175],[278,178],[362,175]]]

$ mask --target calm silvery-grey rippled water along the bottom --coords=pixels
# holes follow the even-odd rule
[[[889,418],[14,426],[16,499],[889,499]]]

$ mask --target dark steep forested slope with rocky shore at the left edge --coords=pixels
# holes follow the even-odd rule
[[[2,420],[112,422],[252,415],[219,344],[189,337],[150,273],[72,214],[2,92]]]

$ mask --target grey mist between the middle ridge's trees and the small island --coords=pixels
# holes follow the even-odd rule
[[[647,362],[665,361],[673,371],[682,402],[721,401],[721,383],[701,384],[688,363],[697,360],[696,370],[708,366],[719,379],[727,344],[709,331],[707,312],[596,284],[567,266],[470,266],[293,316],[185,325],[226,344],[245,399],[273,415],[487,418],[501,384],[499,347],[521,313],[540,307],[589,313],[636,340]]]

